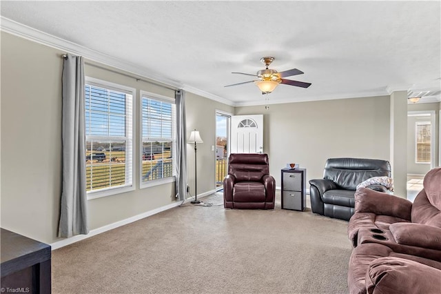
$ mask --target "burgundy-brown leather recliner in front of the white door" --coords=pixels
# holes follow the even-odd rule
[[[267,154],[233,153],[223,180],[223,206],[274,209],[276,180],[269,175]]]

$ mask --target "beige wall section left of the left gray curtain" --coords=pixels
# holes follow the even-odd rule
[[[43,242],[59,214],[59,53],[1,33],[1,227]]]

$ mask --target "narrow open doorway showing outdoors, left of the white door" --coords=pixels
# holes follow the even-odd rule
[[[227,112],[216,111],[216,190],[222,190],[227,175],[231,118]]]

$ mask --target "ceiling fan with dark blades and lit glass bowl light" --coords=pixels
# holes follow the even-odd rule
[[[271,70],[268,68],[271,62],[274,61],[274,57],[262,57],[260,61],[262,61],[262,63],[265,64],[266,68],[265,70],[259,70],[256,73],[256,75],[251,75],[244,72],[232,72],[234,74],[239,74],[239,75],[251,75],[252,77],[257,77],[256,80],[244,81],[242,83],[227,85],[225,87],[254,83],[262,91],[262,94],[268,94],[274,91],[274,89],[278,86],[278,84],[285,84],[285,85],[296,86],[301,88],[308,88],[309,86],[311,86],[311,83],[305,83],[303,81],[293,81],[291,79],[283,79],[284,77],[291,77],[293,75],[302,75],[302,73],[304,73],[301,70],[298,70],[297,68],[293,68],[291,70],[285,70],[283,72],[278,72],[277,70]]]

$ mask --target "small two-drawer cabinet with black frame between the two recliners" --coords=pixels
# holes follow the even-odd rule
[[[306,168],[282,169],[282,208],[305,210]]]

